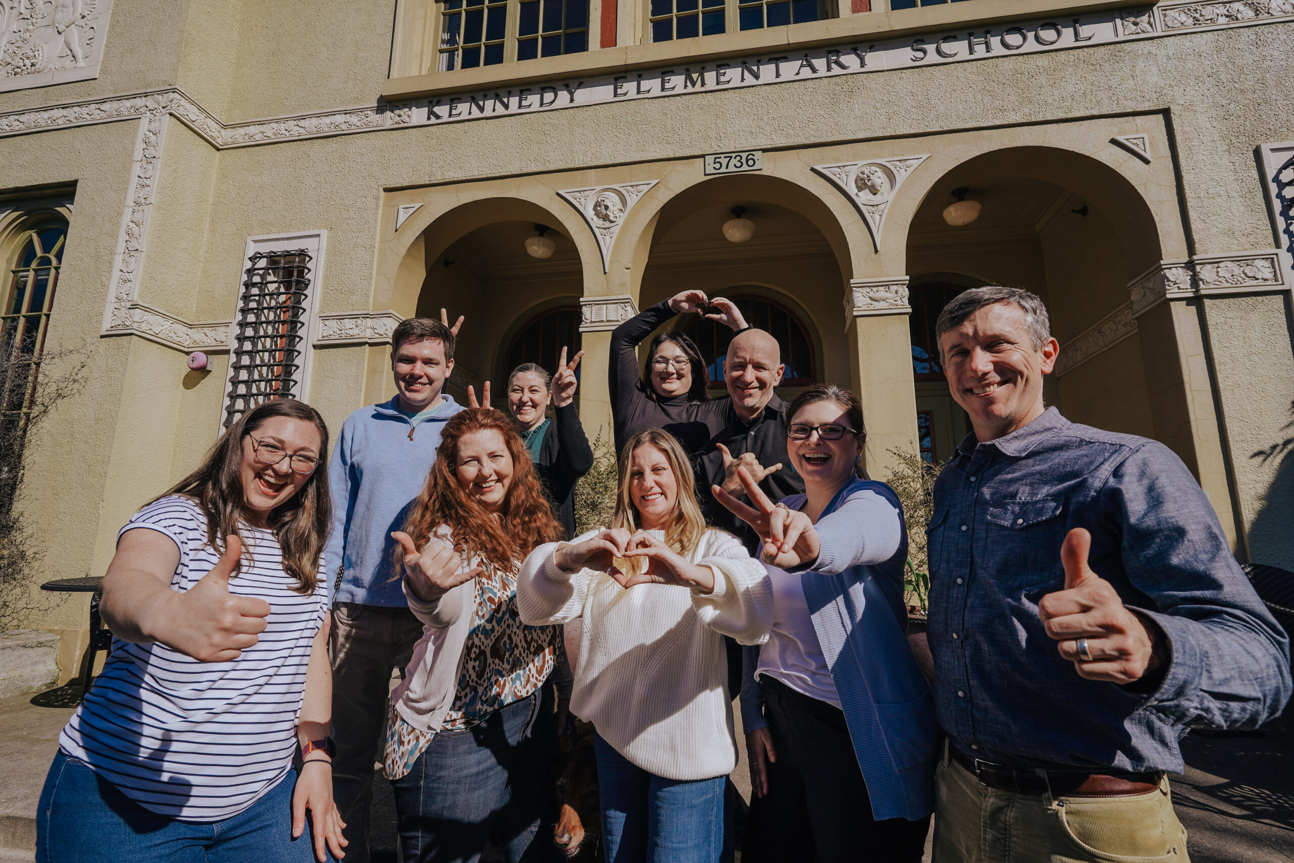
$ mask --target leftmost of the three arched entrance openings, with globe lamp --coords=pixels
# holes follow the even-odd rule
[[[458,232],[455,224],[462,225]],[[543,208],[501,198],[441,215],[410,246],[406,261],[421,257],[414,263],[423,272],[414,313],[439,318],[444,308],[450,320],[466,318],[446,384],[461,404],[468,384],[479,396],[490,380],[493,404],[501,408],[514,367],[537,362],[554,371],[563,347],[571,356],[580,349],[584,277],[580,252],[564,232]],[[553,241],[546,257],[533,256],[534,243],[527,245],[541,234]]]

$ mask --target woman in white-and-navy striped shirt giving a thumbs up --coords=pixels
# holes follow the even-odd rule
[[[343,857],[326,452],[318,411],[265,402],[122,528],[104,578],[113,652],[58,740],[39,860],[304,863],[312,840],[318,860]]]

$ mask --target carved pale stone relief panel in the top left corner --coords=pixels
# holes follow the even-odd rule
[[[98,78],[113,0],[0,0],[0,93]]]

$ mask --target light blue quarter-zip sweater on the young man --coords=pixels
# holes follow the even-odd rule
[[[448,395],[417,422],[397,409],[399,396],[345,418],[329,463],[333,533],[324,550],[330,602],[406,606],[396,578],[392,530],[404,529],[413,501],[436,461],[445,421],[463,410]],[[344,567],[336,595],[331,587]]]

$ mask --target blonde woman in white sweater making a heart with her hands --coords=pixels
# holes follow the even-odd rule
[[[598,728],[608,863],[717,863],[736,766],[721,635],[767,640],[773,593],[736,537],[705,527],[670,433],[629,439],[612,528],[536,549],[516,600],[531,625],[584,618],[571,710]]]

